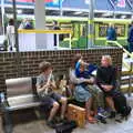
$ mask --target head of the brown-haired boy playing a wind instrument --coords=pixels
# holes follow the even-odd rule
[[[44,72],[47,75],[49,75],[52,71],[52,65],[50,62],[43,61],[39,64],[39,69],[41,72]]]

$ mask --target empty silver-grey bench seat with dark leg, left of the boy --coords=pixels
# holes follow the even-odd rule
[[[12,133],[11,113],[18,110],[37,108],[41,102],[35,91],[37,78],[16,78],[6,80],[6,100],[2,102],[6,133]]]

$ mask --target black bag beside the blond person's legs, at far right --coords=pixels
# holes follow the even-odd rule
[[[114,106],[117,113],[122,114],[122,116],[127,116],[131,113],[131,106],[126,103],[126,98],[120,91],[115,91],[113,94]]]

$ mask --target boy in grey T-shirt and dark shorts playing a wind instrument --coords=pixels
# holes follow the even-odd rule
[[[39,69],[41,74],[37,79],[37,92],[39,94],[40,100],[43,102],[47,108],[50,108],[50,115],[48,117],[47,124],[53,127],[53,117],[55,116],[60,103],[61,106],[61,120],[64,119],[64,113],[66,109],[66,98],[55,93],[53,89],[55,89],[55,82],[52,74],[52,65],[49,62],[41,62],[39,64]]]

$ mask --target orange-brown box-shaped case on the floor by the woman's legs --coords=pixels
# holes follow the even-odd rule
[[[80,127],[85,125],[85,109],[74,104],[68,105],[68,119],[74,120]]]

